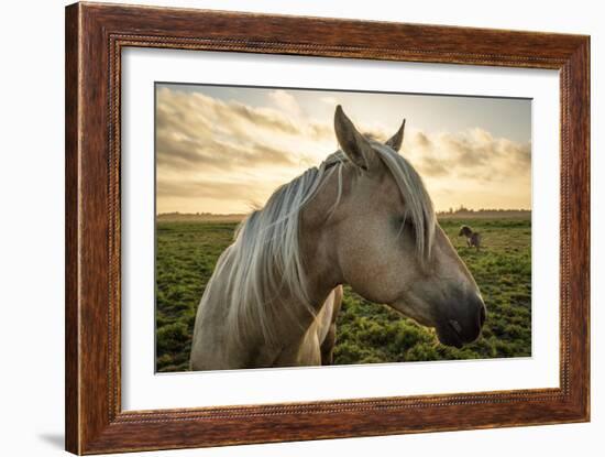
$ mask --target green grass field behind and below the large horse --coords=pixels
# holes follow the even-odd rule
[[[447,218],[440,221],[473,273],[487,306],[482,337],[462,349],[385,305],[345,289],[334,362],[374,363],[485,359],[531,355],[531,221],[527,218]],[[476,252],[457,237],[466,224],[482,233]],[[237,222],[158,221],[156,251],[156,369],[188,370],[197,305]]]

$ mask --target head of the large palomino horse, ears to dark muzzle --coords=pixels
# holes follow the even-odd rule
[[[330,213],[327,219],[315,219],[321,220],[318,242],[330,252],[339,281],[369,301],[435,327],[441,342],[461,347],[479,337],[485,305],[439,226],[422,179],[398,153],[404,127],[405,121],[381,143],[360,133],[337,107],[337,154],[346,160],[334,185],[309,205],[306,218],[314,220],[314,210]]]

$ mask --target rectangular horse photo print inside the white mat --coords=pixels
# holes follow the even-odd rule
[[[531,100],[156,83],[156,371],[531,356]]]

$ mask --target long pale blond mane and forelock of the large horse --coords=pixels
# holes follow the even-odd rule
[[[406,218],[409,217],[415,228],[416,254],[425,265],[430,257],[436,226],[431,199],[420,176],[405,157],[387,145],[372,139],[369,141],[399,187],[406,204]],[[263,208],[252,211],[240,224],[233,243],[219,258],[207,286],[212,287],[218,275],[227,278],[221,300],[228,309],[226,324],[229,333],[244,340],[252,336],[253,329],[261,329],[265,341],[277,342],[275,323],[294,319],[296,311],[279,305],[284,291],[315,317],[316,304],[310,303],[307,293],[299,249],[299,216],[334,173],[338,174],[338,195],[331,211],[338,207],[345,166],[354,165],[341,150],[334,152],[318,167],[311,167],[278,187]]]

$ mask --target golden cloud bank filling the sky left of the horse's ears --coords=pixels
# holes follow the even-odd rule
[[[296,119],[296,100],[285,91],[273,95],[279,109],[167,87],[156,96],[160,211],[196,202],[205,210],[210,199],[231,208],[241,202],[245,210],[250,200],[264,203],[278,185],[336,150],[331,126]]]

